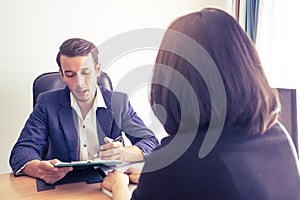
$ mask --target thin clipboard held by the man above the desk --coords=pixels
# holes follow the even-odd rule
[[[87,161],[72,161],[72,162],[58,162],[54,167],[75,167],[75,168],[85,168],[85,167],[96,167],[96,166],[116,166],[123,162],[120,160],[87,160]]]

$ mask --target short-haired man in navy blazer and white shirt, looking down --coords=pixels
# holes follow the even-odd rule
[[[72,167],[56,168],[59,161],[141,161],[158,141],[131,107],[127,95],[97,85],[98,50],[89,41],[65,41],[56,58],[67,87],[46,92],[27,120],[11,151],[15,175],[26,174],[55,183]],[[124,132],[132,146],[113,139]]]

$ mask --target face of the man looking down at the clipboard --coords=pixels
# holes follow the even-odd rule
[[[61,55],[60,62],[62,79],[77,102],[91,103],[96,93],[100,65],[98,64],[95,68],[91,56],[68,57]]]

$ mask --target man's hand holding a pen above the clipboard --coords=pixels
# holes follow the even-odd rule
[[[122,160],[125,162],[138,162],[144,159],[142,150],[137,146],[123,146],[121,142],[105,137],[106,144],[100,146],[100,159]]]

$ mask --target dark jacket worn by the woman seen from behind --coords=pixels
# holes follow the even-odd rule
[[[182,156],[159,169],[183,143],[174,143],[174,136],[163,139],[157,150],[163,151],[146,157],[147,173],[141,175],[132,199],[300,199],[295,147],[278,124],[263,135],[224,130],[212,151],[199,158],[204,134],[198,132]]]

